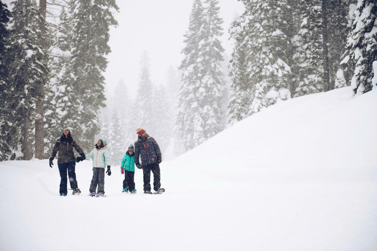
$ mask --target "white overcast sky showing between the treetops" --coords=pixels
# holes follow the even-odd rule
[[[12,1],[3,2],[9,6]],[[112,95],[115,86],[123,79],[129,96],[134,96],[143,50],[149,52],[153,84],[164,84],[168,67],[179,66],[193,0],[116,0],[116,3],[120,9],[114,16],[119,25],[110,28],[112,52],[107,55],[109,64],[104,73],[106,88]],[[228,28],[236,14],[242,14],[244,5],[237,0],[219,0],[219,6],[219,15],[224,20],[222,46],[230,55],[232,46],[228,40]]]

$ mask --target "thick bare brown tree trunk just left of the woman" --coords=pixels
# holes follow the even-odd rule
[[[46,22],[46,0],[39,1],[39,13]],[[40,27],[42,37],[46,34],[45,26]],[[40,40],[40,47],[44,49],[46,43],[44,39]],[[44,119],[44,82],[41,81],[37,87],[37,102],[35,103],[35,110],[37,113],[35,119],[35,158],[44,158],[44,133],[43,133],[43,119]]]

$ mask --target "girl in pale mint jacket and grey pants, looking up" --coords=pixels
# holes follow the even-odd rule
[[[110,153],[107,150],[107,142],[103,138],[100,138],[95,145],[95,148],[86,154],[85,158],[93,158],[93,178],[90,183],[89,196],[104,196],[105,194],[105,167],[107,166],[107,175],[111,175],[110,170]],[[98,185],[98,190],[96,193]]]

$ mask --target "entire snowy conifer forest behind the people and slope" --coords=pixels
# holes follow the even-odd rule
[[[191,1],[182,61],[163,85],[139,55],[132,95],[124,81],[106,94],[118,1],[0,0],[0,161],[49,158],[66,127],[85,153],[106,138],[114,165],[137,128],[176,157],[282,100],[377,88],[375,0],[239,0],[228,30],[221,1]]]

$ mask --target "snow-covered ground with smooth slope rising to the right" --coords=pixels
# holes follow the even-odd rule
[[[276,105],[161,163],[162,195],[59,196],[48,160],[0,163],[0,250],[377,250],[377,91]],[[153,136],[153,135],[151,135]],[[158,141],[158,139],[156,139]],[[110,149],[111,151],[111,149]]]

